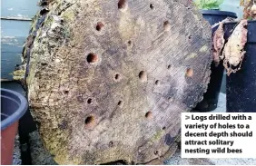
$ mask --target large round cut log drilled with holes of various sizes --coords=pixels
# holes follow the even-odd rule
[[[41,2],[25,44],[28,100],[59,164],[156,163],[202,100],[211,27],[187,0]],[[47,6],[47,8],[46,8]]]

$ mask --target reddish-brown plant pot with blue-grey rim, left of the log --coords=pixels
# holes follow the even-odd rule
[[[22,94],[1,88],[1,165],[12,164],[18,120],[27,105]]]

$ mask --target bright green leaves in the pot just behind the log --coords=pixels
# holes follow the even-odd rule
[[[195,0],[194,4],[198,6],[199,9],[220,9],[220,5],[224,0]]]

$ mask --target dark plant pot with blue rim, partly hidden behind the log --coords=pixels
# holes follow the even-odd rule
[[[202,16],[211,25],[221,22],[227,17],[237,18],[237,15],[232,12],[224,12],[219,10],[202,10]],[[212,29],[212,35],[217,30],[218,27]],[[211,65],[211,79],[208,84],[207,92],[203,94],[203,100],[198,103],[195,107],[196,111],[199,112],[211,112],[217,108],[219,94],[222,87],[222,77],[224,73],[224,67],[222,62],[216,67],[215,63],[212,62]]]

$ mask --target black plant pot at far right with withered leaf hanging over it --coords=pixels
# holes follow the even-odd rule
[[[224,24],[225,39],[236,24]],[[249,21],[247,36],[241,70],[227,76],[227,112],[256,112],[256,21]]]

